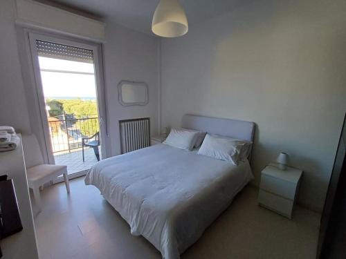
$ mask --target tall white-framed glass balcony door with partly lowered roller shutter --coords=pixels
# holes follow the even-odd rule
[[[49,162],[79,177],[104,156],[100,51],[46,35],[29,39]]]

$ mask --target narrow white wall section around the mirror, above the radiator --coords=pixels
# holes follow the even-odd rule
[[[141,32],[107,22],[104,44],[104,69],[107,89],[111,155],[120,154],[120,119],[150,117],[152,134],[157,133],[158,119],[158,40]],[[118,83],[121,80],[145,81],[149,86],[149,104],[121,106]]]

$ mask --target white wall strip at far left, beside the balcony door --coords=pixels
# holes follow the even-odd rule
[[[15,30],[15,6],[1,0],[0,7],[0,125],[30,131],[30,122],[21,78]]]

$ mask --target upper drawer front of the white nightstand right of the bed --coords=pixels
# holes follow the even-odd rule
[[[295,198],[296,184],[281,180],[280,178],[273,178],[270,175],[262,174],[260,188],[290,200]]]

